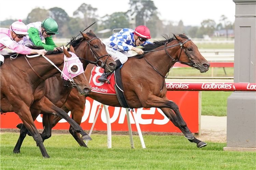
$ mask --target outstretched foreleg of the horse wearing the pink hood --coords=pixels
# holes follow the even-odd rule
[[[82,135],[83,140],[91,140],[90,136],[83,131],[80,125],[78,125],[73,119],[71,119],[68,114],[63,111],[62,109],[55,106],[51,101],[49,101],[48,98],[45,96],[42,98],[42,100],[33,103],[31,107],[35,109],[39,109],[45,113],[53,114],[56,116],[61,117],[62,119],[65,119],[74,129],[76,132],[80,133]]]

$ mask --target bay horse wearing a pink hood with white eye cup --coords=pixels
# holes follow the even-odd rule
[[[41,49],[43,49],[43,47]],[[63,51],[59,49],[57,52],[49,51],[45,56],[39,55],[31,58],[30,56],[27,58],[25,55],[17,54],[12,60],[10,56],[13,53],[11,53],[10,55],[5,55],[5,57],[8,58],[6,58],[5,63],[0,69],[1,112],[15,112],[19,116],[26,129],[28,129],[39,146],[43,157],[49,157],[49,155],[43,145],[42,137],[35,127],[29,110],[30,108],[40,110],[47,114],[57,115],[67,120],[67,122],[82,135],[83,140],[91,140],[81,126],[71,119],[66,112],[56,107],[44,96],[46,79],[60,75],[65,78],[60,72],[63,69],[64,64],[65,68],[67,65],[67,68],[73,73],[77,73],[79,69],[82,69],[82,72],[79,75],[68,78],[68,80],[72,82],[72,86],[78,89],[80,95],[88,95],[88,92],[91,90],[90,84],[84,75],[83,68],[80,68],[80,66],[82,67],[82,63],[80,66],[78,64],[71,64],[70,66],[69,64],[66,64],[67,61],[67,63],[69,63],[69,60],[79,60],[74,54],[72,46],[70,51],[71,53],[64,49],[63,53]],[[16,153],[20,152],[18,151]]]

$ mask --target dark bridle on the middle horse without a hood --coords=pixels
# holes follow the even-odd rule
[[[108,57],[110,56],[110,54],[106,54],[106,55],[103,55],[103,56],[98,56],[95,52],[94,52],[94,50],[91,48],[91,45],[90,45],[90,42],[92,41],[92,40],[94,40],[94,39],[99,39],[99,38],[93,38],[93,39],[91,39],[91,40],[87,40],[87,52],[86,52],[86,59],[84,59],[84,58],[80,58],[80,57],[78,57],[80,60],[84,60],[84,61],[87,61],[87,62],[89,62],[89,63],[91,63],[91,64],[95,64],[95,65],[97,65],[98,67],[101,67],[101,68],[108,68],[107,66],[106,66],[106,62],[107,62],[107,60],[108,60]],[[93,54],[93,56],[94,56],[94,58],[95,58],[95,60],[96,60],[96,62],[93,62],[93,61],[90,61],[90,60],[88,60],[88,46],[90,47],[90,51],[91,51],[91,53]],[[100,59],[102,58],[102,57],[104,57],[104,56],[108,56],[107,58],[106,58],[106,60],[105,60],[105,63],[103,63]],[[98,65],[98,62],[101,62],[101,65],[99,66]],[[109,68],[108,68],[109,69]]]

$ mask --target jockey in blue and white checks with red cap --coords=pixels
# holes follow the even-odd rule
[[[112,56],[113,60],[115,60],[116,68],[118,68],[128,60],[128,57],[132,56],[127,51],[132,50],[137,54],[143,54],[144,51],[136,47],[149,44],[150,42],[147,40],[150,38],[148,28],[146,26],[138,26],[135,30],[129,28],[122,29],[108,39],[103,40],[103,43],[106,45],[106,51]],[[110,74],[111,73],[104,71],[98,81],[108,81]]]

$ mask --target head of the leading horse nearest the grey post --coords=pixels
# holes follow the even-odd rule
[[[184,37],[182,35],[184,35]],[[174,37],[182,43],[180,45],[182,51],[179,52],[178,61],[182,64],[198,69],[201,73],[207,72],[210,64],[198,51],[197,46],[190,39],[187,39],[185,34],[180,34],[179,36],[174,35]]]

